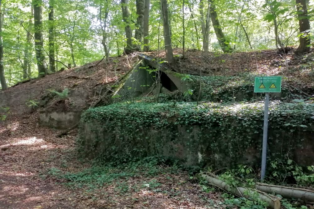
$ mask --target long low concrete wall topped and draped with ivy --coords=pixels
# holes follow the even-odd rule
[[[268,157],[314,165],[313,104],[271,102]],[[81,153],[106,161],[160,155],[183,165],[260,165],[263,103],[112,104],[87,110]]]

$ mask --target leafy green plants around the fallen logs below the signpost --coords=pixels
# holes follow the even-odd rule
[[[272,175],[266,176],[264,183],[274,184],[274,185],[293,185],[293,187],[307,187],[311,188],[314,186],[314,165],[307,166],[305,170],[301,166],[296,165],[295,162],[288,159],[286,162],[282,162],[278,159],[273,161],[271,165],[282,164],[282,167],[276,167],[276,171],[273,171]],[[201,173],[203,173],[201,171]],[[247,165],[238,165],[236,169],[222,168],[218,171],[213,171],[208,168],[206,172],[208,175],[216,173],[216,177],[219,180],[225,182],[230,188],[245,187],[244,195],[249,196],[249,198],[236,197],[232,193],[224,193],[222,197],[225,199],[225,204],[230,207],[237,206],[241,209],[263,209],[268,206],[268,203],[263,201],[259,193],[257,192],[255,185],[256,182],[260,182],[260,176],[252,167]],[[218,173],[218,174],[217,174]],[[277,174],[281,175],[279,177]],[[274,175],[275,174],[275,175]],[[289,179],[290,178],[290,179]],[[291,181],[294,179],[294,181]],[[203,191],[211,192],[217,190],[213,185],[208,184],[208,182],[199,178],[199,184],[202,186]],[[297,201],[293,199],[285,199],[280,194],[277,194],[281,199],[281,204],[287,209],[307,209],[311,208],[313,205],[306,203],[304,201]]]

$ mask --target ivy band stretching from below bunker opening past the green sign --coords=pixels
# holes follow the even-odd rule
[[[193,75],[179,75],[182,81],[187,83],[188,89],[180,93],[177,91],[160,93],[149,97],[138,97],[134,101],[143,102],[190,102],[198,99],[200,77]],[[203,76],[201,83],[200,101],[207,102],[239,102],[261,101],[264,98],[262,93],[254,93],[255,75],[244,74],[242,76]],[[292,99],[306,99],[299,89],[291,88],[287,84],[287,79],[283,77],[281,93],[272,93],[273,99],[290,101]],[[157,98],[158,97],[158,98]]]

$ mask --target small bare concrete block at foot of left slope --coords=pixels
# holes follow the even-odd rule
[[[81,110],[51,110],[39,113],[39,125],[49,128],[67,129],[78,123],[81,118]]]

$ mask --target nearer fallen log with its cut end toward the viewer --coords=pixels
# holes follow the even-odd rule
[[[256,192],[258,193],[259,197],[261,200],[265,201],[268,203],[268,206],[273,208],[273,209],[280,209],[281,208],[281,203],[280,200],[281,198],[273,196],[273,195],[268,195],[264,192],[253,190],[250,188],[245,188],[245,187],[231,187],[227,185],[224,181],[219,180],[217,178],[208,176],[206,174],[201,175],[209,184],[214,185],[219,187],[220,189],[233,193],[236,196],[239,197],[245,197],[246,199],[250,199],[250,197],[255,196]],[[247,194],[247,195],[245,195]]]

